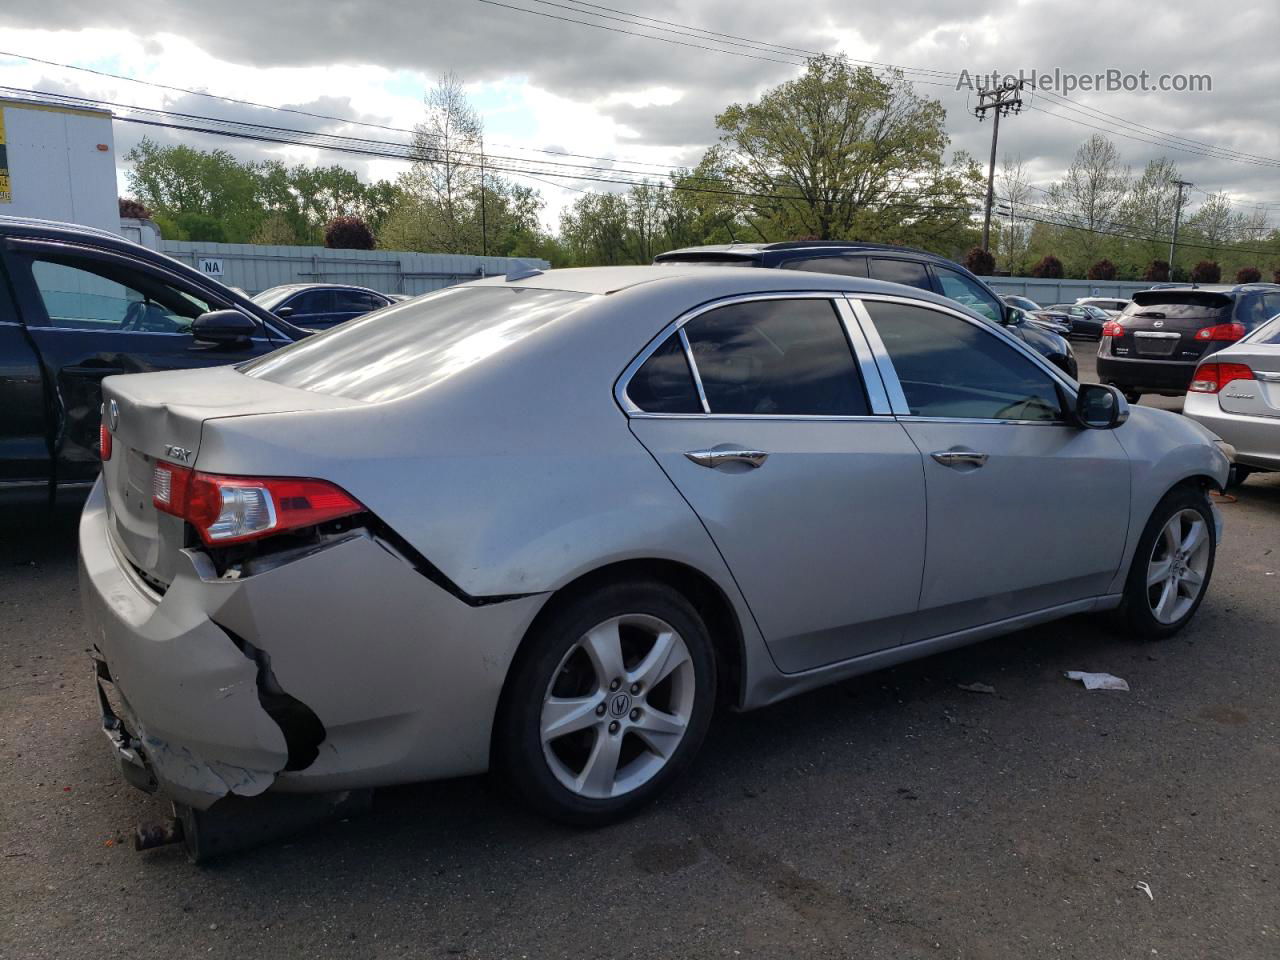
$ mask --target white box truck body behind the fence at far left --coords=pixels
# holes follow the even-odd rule
[[[119,233],[110,111],[0,97],[0,216]]]

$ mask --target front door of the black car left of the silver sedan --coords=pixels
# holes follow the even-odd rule
[[[102,378],[234,364],[273,344],[197,342],[191,324],[210,293],[127,255],[64,243],[22,243],[6,268],[50,384],[55,483],[87,484],[99,470]]]

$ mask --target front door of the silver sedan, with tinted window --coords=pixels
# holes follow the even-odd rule
[[[1068,422],[1066,384],[980,320],[873,297],[861,311],[924,460],[928,545],[908,639],[1105,594],[1129,525],[1115,431]]]

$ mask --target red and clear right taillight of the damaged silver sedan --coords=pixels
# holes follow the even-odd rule
[[[186,520],[211,547],[315,526],[365,509],[324,480],[223,476],[174,463],[156,463],[151,502],[156,509]]]

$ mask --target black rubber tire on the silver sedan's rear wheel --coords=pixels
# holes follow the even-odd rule
[[[621,796],[582,796],[558,778],[552,769],[552,760],[544,754],[544,698],[553,690],[553,684],[559,684],[567,675],[570,664],[566,663],[566,657],[585,655],[575,652],[575,648],[589,631],[616,617],[636,614],[664,621],[684,640],[692,669],[690,716],[678,745],[649,780]],[[628,660],[626,666],[630,669],[634,664]],[[589,677],[589,682],[595,685],[593,689],[600,690],[598,681]],[[655,694],[658,687],[646,692]],[[600,694],[611,708],[602,723],[613,716],[622,723],[628,717],[634,719],[627,713],[614,714],[613,695],[604,691]],[[639,704],[637,698],[636,705]],[[694,605],[678,591],[657,581],[605,585],[566,602],[535,625],[525,640],[512,666],[494,726],[494,771],[511,792],[550,819],[579,827],[613,823],[636,813],[681,777],[707,736],[714,705],[716,655],[707,626]],[[602,737],[607,731],[588,730],[580,731],[580,735]],[[621,736],[635,737],[627,730]],[[631,746],[643,746],[641,740],[635,737]],[[620,769],[625,768],[626,764],[620,763]]]

